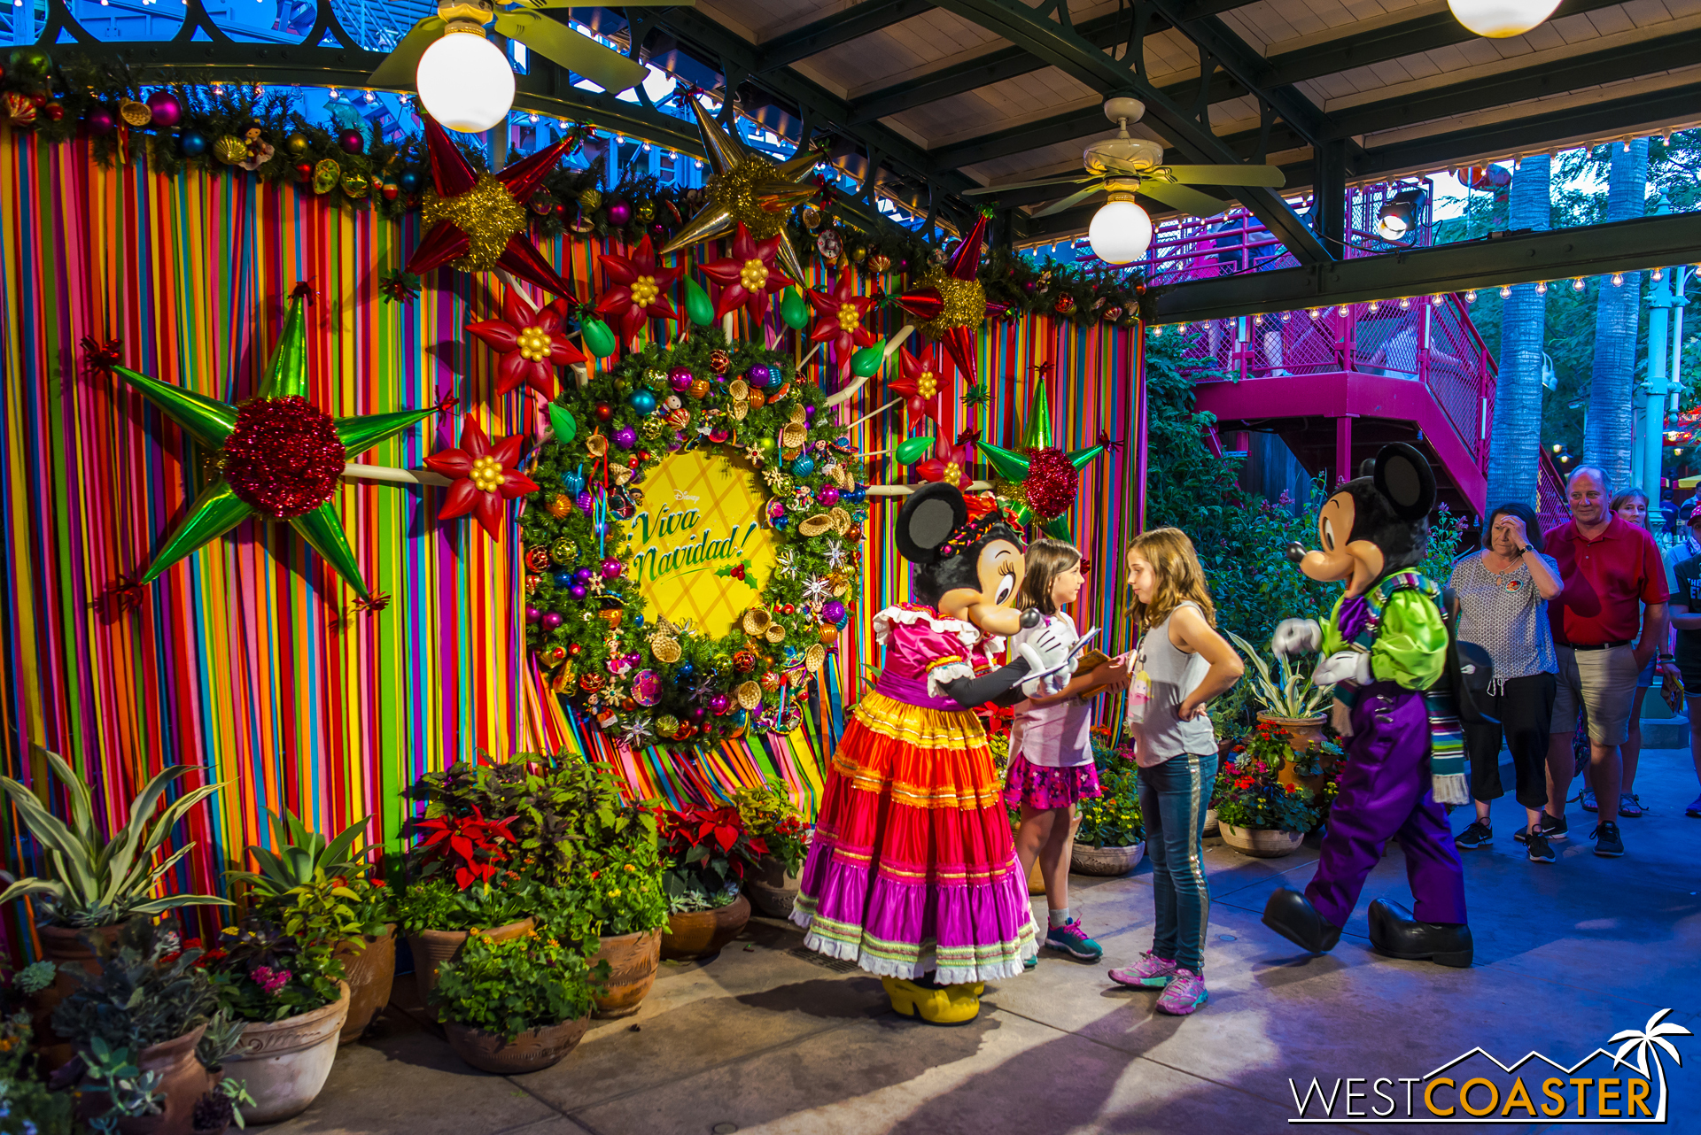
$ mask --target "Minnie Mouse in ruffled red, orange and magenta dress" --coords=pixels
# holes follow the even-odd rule
[[[1002,635],[1039,612],[1012,607],[1022,581],[1014,520],[976,505],[971,515],[956,486],[927,484],[898,510],[919,601],[874,615],[885,668],[832,754],[791,914],[808,948],[876,974],[893,1009],[937,1025],[973,1019],[983,982],[1015,977],[1038,953],[973,709],[1014,703],[1024,680],[1070,669],[1068,647],[1046,634],[993,666]]]

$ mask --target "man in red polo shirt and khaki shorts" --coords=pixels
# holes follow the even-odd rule
[[[1572,787],[1572,734],[1577,707],[1589,720],[1589,765],[1596,799],[1616,800],[1623,763],[1618,746],[1630,734],[1636,675],[1665,644],[1665,564],[1645,528],[1607,508],[1606,472],[1580,466],[1565,483],[1572,518],[1548,534],[1560,564],[1560,598],[1548,603],[1560,681],[1548,737],[1548,810],[1541,831],[1565,839],[1565,797]],[[1643,607],[1647,605],[1647,607]],[[1590,833],[1596,855],[1624,855],[1618,824],[1601,812]]]

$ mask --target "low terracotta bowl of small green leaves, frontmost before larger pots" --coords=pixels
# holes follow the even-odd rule
[[[556,938],[527,931],[475,935],[444,962],[432,1004],[449,1047],[475,1069],[514,1076],[560,1064],[590,1025],[585,960]]]

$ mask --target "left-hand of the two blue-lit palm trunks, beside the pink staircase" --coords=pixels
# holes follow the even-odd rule
[[[1551,223],[1553,160],[1524,158],[1512,175],[1509,228],[1546,229]],[[1517,284],[1500,304],[1500,377],[1493,432],[1488,435],[1488,508],[1505,501],[1536,506],[1536,454],[1541,449],[1541,347],[1546,296]]]

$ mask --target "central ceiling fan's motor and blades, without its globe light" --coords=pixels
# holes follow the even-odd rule
[[[1034,189],[1039,185],[1085,185],[1068,197],[1056,200],[1038,211],[1036,217],[1046,217],[1063,209],[1072,209],[1095,194],[1109,194],[1109,200],[1133,202],[1135,194],[1163,202],[1172,209],[1189,212],[1198,217],[1209,217],[1221,212],[1226,204],[1201,194],[1189,185],[1264,185],[1281,189],[1286,184],[1283,172],[1272,165],[1163,165],[1163,146],[1145,138],[1129,138],[1128,124],[1138,122],[1146,107],[1138,99],[1107,99],[1104,114],[1116,122],[1116,138],[1095,141],[1082,155],[1085,173],[1044,177],[1034,182],[1017,182],[1015,185],[987,185],[983,189],[964,190],[964,197],[985,197],[1007,194],[1015,189]]]

